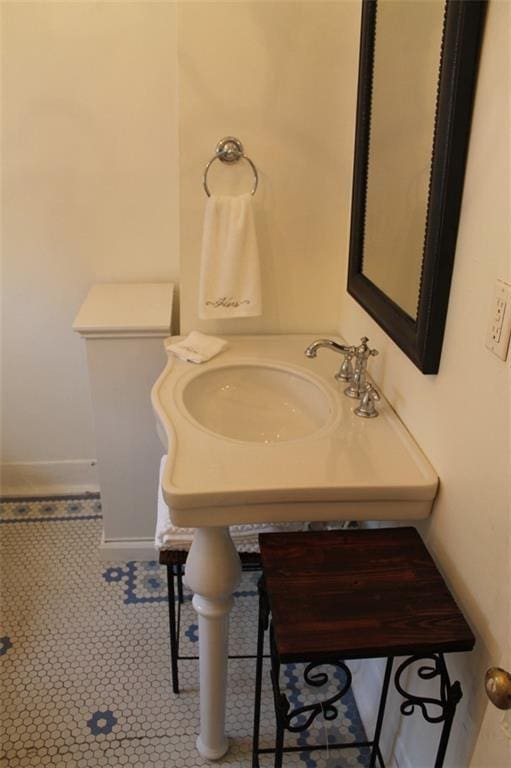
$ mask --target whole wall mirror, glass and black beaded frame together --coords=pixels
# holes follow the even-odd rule
[[[440,362],[484,0],[363,0],[349,293]]]

